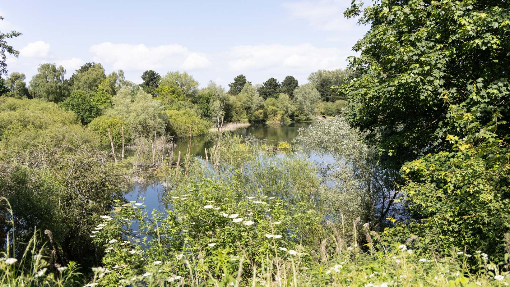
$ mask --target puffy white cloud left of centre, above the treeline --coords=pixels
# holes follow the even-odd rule
[[[200,69],[210,65],[204,54],[191,53],[188,48],[179,45],[147,47],[144,44],[100,43],[90,47],[93,60],[110,64],[116,69],[126,71]]]

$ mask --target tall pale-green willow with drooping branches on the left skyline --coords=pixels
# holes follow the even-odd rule
[[[41,64],[37,74],[30,81],[30,94],[34,98],[60,102],[69,96],[69,86],[65,81],[65,69],[55,64]]]

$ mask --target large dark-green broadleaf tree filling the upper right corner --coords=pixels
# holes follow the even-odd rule
[[[349,97],[350,123],[381,159],[399,168],[449,150],[446,135],[467,136],[452,120],[460,115],[476,117],[480,133],[510,138],[507,15],[507,7],[486,1],[385,0],[364,10],[360,21],[371,28],[354,45],[360,57],[351,58],[362,76],[340,92]],[[452,105],[463,112],[452,113]]]

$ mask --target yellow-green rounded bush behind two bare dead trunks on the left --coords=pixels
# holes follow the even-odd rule
[[[122,148],[122,125],[124,125],[124,145],[129,145],[133,142],[132,131],[117,117],[97,117],[89,123],[88,128],[96,134],[99,143],[107,149],[110,148],[110,136],[108,136],[108,129],[110,129],[113,145],[115,148]]]

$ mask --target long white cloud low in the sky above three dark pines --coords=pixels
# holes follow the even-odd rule
[[[228,53],[231,71],[268,70],[310,73],[318,69],[346,66],[349,51],[318,48],[312,44],[235,46]]]

